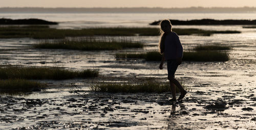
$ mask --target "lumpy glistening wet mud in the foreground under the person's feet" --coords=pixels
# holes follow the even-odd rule
[[[94,93],[83,87],[91,82],[86,80],[25,98],[1,96],[0,125],[3,129],[254,128],[254,86],[218,86],[186,80],[199,85],[191,86],[193,90],[179,102],[170,102],[170,93]]]

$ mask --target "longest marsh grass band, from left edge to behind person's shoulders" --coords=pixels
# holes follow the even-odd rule
[[[241,33],[240,31],[212,31],[202,29],[174,28],[178,35],[210,36],[216,33]],[[55,29],[49,26],[7,26],[0,27],[0,38],[62,39],[77,36],[159,36],[158,28],[92,28],[92,29]]]

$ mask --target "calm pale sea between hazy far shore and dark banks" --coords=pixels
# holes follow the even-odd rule
[[[256,13],[0,13],[1,18],[40,18],[59,22],[56,28],[149,27],[160,19],[256,19]]]

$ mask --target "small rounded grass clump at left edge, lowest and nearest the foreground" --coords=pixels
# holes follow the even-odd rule
[[[5,79],[0,80],[0,93],[18,95],[34,90],[44,89],[46,84],[26,79]]]

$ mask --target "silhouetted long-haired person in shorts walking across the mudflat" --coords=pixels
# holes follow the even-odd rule
[[[186,91],[180,82],[175,79],[175,72],[178,66],[181,64],[183,57],[183,48],[180,43],[179,36],[172,31],[172,24],[169,20],[162,20],[161,23],[162,35],[159,41],[159,50],[163,55],[159,69],[163,69],[163,62],[167,60],[167,70],[168,70],[168,80],[170,82],[170,90],[172,91],[173,98],[170,101],[176,101],[176,90],[175,85],[180,89],[180,97],[178,100],[181,100],[186,95]]]

